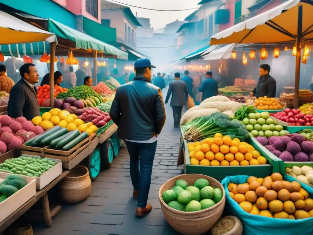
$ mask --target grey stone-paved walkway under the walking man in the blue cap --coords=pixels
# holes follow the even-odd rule
[[[165,100],[167,90],[163,91]],[[152,212],[136,218],[137,201],[132,198],[129,173],[129,155],[126,148],[114,159],[111,168],[100,173],[92,182],[90,196],[75,205],[63,205],[59,215],[53,219],[52,227],[32,224],[35,235],[176,235],[163,217],[158,191],[163,183],[180,175],[183,167],[177,167],[180,130],[173,127],[172,108],[165,105],[167,119],[158,137],[156,155],[148,202]]]

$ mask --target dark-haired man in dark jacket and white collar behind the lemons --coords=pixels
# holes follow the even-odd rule
[[[39,74],[34,64],[24,64],[19,69],[22,77],[11,89],[8,102],[8,115],[11,118],[25,117],[32,120],[40,116],[37,100],[37,88]]]

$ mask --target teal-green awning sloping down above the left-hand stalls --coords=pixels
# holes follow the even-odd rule
[[[118,59],[127,60],[126,52],[50,18],[48,19],[48,31],[53,32],[57,37],[73,41],[76,49],[97,50],[108,55],[115,55]]]

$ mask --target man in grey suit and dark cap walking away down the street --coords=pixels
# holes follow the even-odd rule
[[[185,98],[188,98],[188,90],[186,82],[180,80],[180,73],[175,73],[174,76],[175,80],[170,82],[165,103],[167,104],[172,94],[171,107],[173,109],[174,127],[177,128],[182,117],[182,107],[185,105]]]

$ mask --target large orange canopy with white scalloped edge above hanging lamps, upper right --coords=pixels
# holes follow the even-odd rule
[[[301,6],[301,11],[299,6]],[[211,37],[210,44],[277,43],[295,41],[298,35],[298,14],[302,39],[313,38],[313,1],[289,0],[279,6],[245,20]]]

